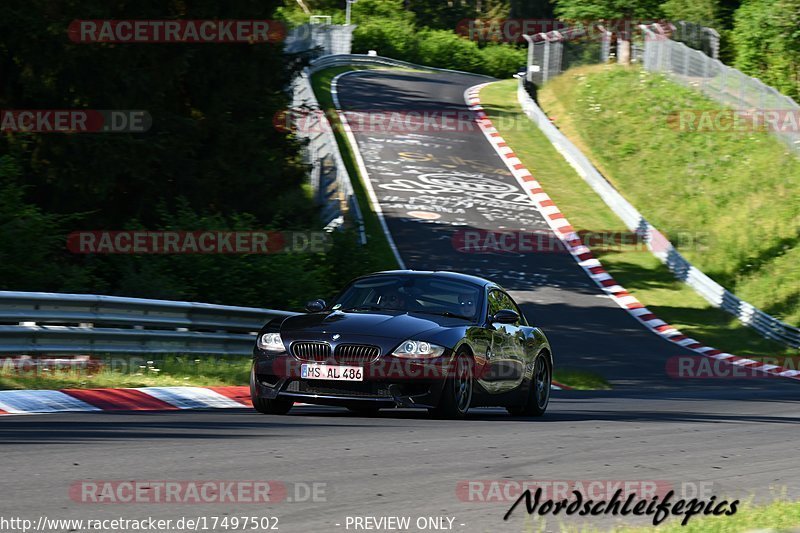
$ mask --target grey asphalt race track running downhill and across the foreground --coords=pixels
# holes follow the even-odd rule
[[[465,89],[483,81],[362,71],[342,76],[338,92],[346,111],[464,111]],[[545,329],[557,365],[599,372],[613,391],[556,392],[539,420],[498,409],[475,410],[460,422],[407,410],[364,418],[324,407],[296,407],[284,417],[237,409],[3,417],[4,515],[277,516],[280,531],[325,532],[354,530],[346,529],[348,516],[409,516],[412,523],[431,516],[454,518],[454,531],[523,531],[522,508],[504,522],[511,501],[465,501],[459,487],[470,480],[655,480],[679,495],[703,484],[719,498],[765,500],[784,489],[800,497],[795,383],[672,379],[667,361],[688,352],[641,327],[566,253],[459,251],[459,231],[547,230],[483,134],[461,129],[355,132],[405,265],[495,279]],[[69,494],[80,480],[165,479],[317,482],[325,490],[317,501],[266,506],[92,505]],[[615,521],[647,523],[591,523]]]

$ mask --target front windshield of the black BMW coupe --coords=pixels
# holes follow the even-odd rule
[[[475,321],[481,288],[457,280],[427,276],[372,276],[351,284],[333,309],[353,312],[399,311]]]

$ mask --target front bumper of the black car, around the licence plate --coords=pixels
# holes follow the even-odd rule
[[[439,403],[450,361],[441,357],[409,362],[384,356],[374,363],[357,365],[363,368],[363,381],[300,378],[301,365],[310,362],[290,355],[256,356],[251,394],[321,405],[432,408]]]

